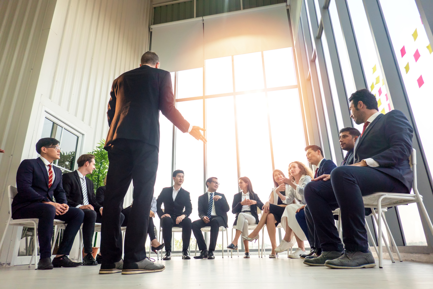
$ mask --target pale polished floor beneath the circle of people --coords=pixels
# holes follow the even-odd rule
[[[138,275],[99,275],[99,266],[55,268],[39,271],[28,266],[0,268],[0,288],[68,289],[68,288],[433,288],[433,264],[391,263],[384,268],[333,270],[305,266],[301,259],[251,259],[235,257],[215,260],[181,260],[173,257],[163,262],[159,273]],[[377,263],[377,260],[376,260]]]

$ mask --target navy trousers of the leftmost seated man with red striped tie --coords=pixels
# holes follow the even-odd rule
[[[41,258],[51,257],[51,240],[53,237],[54,219],[65,221],[65,232],[58,247],[58,255],[69,255],[75,235],[83,223],[84,212],[79,208],[69,207],[63,215],[56,215],[53,205],[44,203],[31,203],[17,209],[12,214],[13,219],[38,218],[39,253]]]

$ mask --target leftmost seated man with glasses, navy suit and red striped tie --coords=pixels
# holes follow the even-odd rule
[[[67,256],[75,235],[80,230],[84,213],[78,208],[68,206],[61,182],[61,169],[52,164],[54,160],[60,159],[60,143],[56,139],[46,137],[36,143],[36,151],[41,156],[37,159],[23,160],[16,172],[18,194],[13,198],[12,218],[39,219],[39,270],[81,266],[83,263],[72,262]],[[54,219],[65,221],[68,225],[57,255],[51,262]]]

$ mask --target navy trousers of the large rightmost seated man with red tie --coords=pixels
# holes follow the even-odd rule
[[[319,181],[319,185],[309,188],[305,195],[322,250],[343,250],[332,213],[332,210],[339,207],[345,249],[368,251],[362,196],[375,192],[408,193],[406,186],[377,169],[358,166],[340,166],[333,169],[331,182],[333,189],[329,189],[329,184],[326,184],[328,188],[323,188],[323,183],[326,182]]]

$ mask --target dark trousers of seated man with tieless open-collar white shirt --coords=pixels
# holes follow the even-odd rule
[[[178,216],[164,217],[161,219],[162,237],[164,238],[165,251],[171,251],[171,228],[182,227],[182,252],[188,250],[191,239],[191,219],[185,217],[179,224],[176,224]]]

